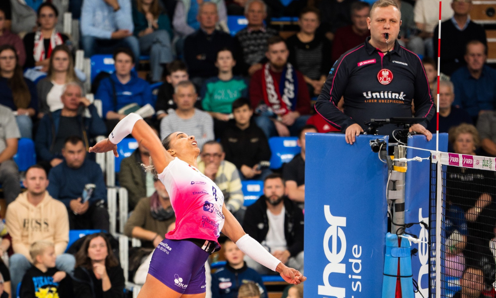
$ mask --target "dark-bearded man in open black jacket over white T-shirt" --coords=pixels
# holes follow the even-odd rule
[[[283,264],[303,270],[303,211],[284,195],[284,179],[270,174],[263,181],[263,196],[247,208],[243,229]],[[267,274],[245,256],[248,267]]]

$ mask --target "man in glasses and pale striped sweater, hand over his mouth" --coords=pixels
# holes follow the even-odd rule
[[[245,217],[245,197],[241,189],[241,179],[234,163],[224,160],[226,153],[219,142],[209,141],[203,145],[198,162],[198,170],[217,184],[224,194],[226,207],[234,217],[243,223]],[[196,181],[191,181],[196,183]]]

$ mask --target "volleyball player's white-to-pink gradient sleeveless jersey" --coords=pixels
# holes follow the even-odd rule
[[[158,178],[165,185],[176,213],[176,228],[165,238],[197,238],[217,242],[224,226],[224,195],[217,185],[177,157]]]

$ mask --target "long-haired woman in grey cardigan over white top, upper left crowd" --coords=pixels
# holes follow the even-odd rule
[[[81,90],[84,90],[74,71],[72,53],[67,46],[60,45],[52,51],[47,77],[40,80],[36,85],[40,101],[38,118],[41,119],[45,114],[63,108],[61,101],[62,90],[65,84],[70,82],[76,82],[81,86]]]

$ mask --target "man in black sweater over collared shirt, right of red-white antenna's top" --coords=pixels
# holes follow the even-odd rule
[[[487,47],[486,31],[481,25],[470,20],[472,0],[453,0],[451,2],[454,15],[441,23],[441,73],[451,75],[466,65],[465,47],[472,40],[478,40]],[[434,29],[434,56],[437,55],[437,37],[439,26]]]

